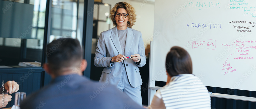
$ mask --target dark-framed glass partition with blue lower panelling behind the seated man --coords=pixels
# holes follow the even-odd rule
[[[61,37],[76,38],[91,51],[93,0],[0,0],[0,80],[14,80],[29,94],[49,84],[42,68],[45,47]],[[84,14],[85,13],[85,14]],[[89,55],[87,55],[89,54]],[[84,52],[90,63],[91,53]],[[23,63],[34,62],[34,63]],[[28,65],[27,65],[28,64]],[[90,65],[84,76],[90,77]],[[89,73],[87,73],[89,72]],[[15,94],[10,94],[15,98]],[[6,107],[12,107],[14,100]]]

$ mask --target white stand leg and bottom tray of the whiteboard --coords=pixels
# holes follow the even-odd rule
[[[156,93],[156,90],[161,89],[162,87],[155,86],[156,81],[153,79],[153,48],[154,42],[150,42],[150,57],[149,57],[149,76],[148,76],[148,105],[151,104],[151,101]],[[251,101],[256,102],[256,98],[254,97],[245,97],[245,96],[236,96],[236,95],[229,95],[229,94],[221,94],[221,93],[211,93],[210,97],[217,97],[217,98],[225,98],[225,99],[233,99],[233,100],[242,100],[242,101]]]

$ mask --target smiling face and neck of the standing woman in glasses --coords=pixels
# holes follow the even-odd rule
[[[116,12],[118,13],[126,13],[127,11],[124,8],[119,8]],[[127,29],[127,22],[128,22],[128,16],[126,18],[123,18],[121,15],[119,17],[115,16],[115,21],[116,21],[116,28],[118,30],[125,30]]]

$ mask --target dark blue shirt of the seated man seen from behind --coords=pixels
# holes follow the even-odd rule
[[[110,84],[89,80],[77,74],[59,76],[52,82],[27,97],[21,109],[102,109],[138,108],[127,95]]]

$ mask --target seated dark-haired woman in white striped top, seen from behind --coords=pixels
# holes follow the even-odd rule
[[[157,90],[148,108],[211,108],[208,90],[192,74],[192,61],[185,49],[171,48],[166,56],[166,74],[166,85]]]

